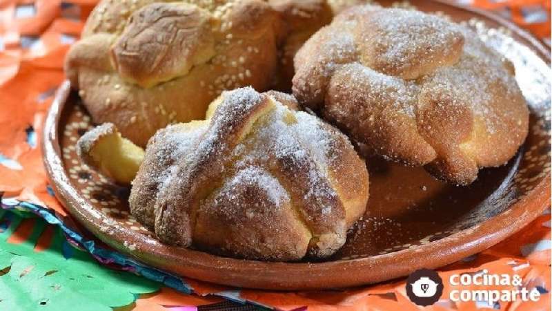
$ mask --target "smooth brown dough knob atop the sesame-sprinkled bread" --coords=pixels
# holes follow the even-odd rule
[[[152,3],[128,20],[112,46],[121,78],[143,88],[186,75],[215,56],[208,11],[189,3]]]

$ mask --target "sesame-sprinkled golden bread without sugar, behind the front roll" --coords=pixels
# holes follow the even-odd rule
[[[94,122],[144,147],[167,124],[203,119],[221,91],[268,88],[280,22],[261,0],[103,0],[66,73]]]

